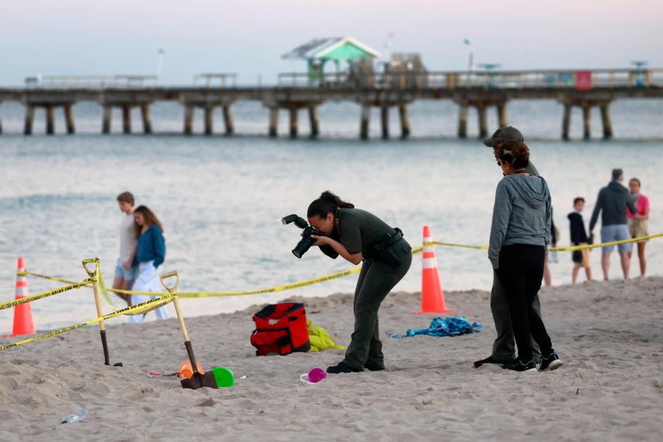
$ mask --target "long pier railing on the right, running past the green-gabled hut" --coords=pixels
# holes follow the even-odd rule
[[[307,73],[278,75],[280,88],[577,88],[663,87],[663,69],[494,70],[459,72]]]

